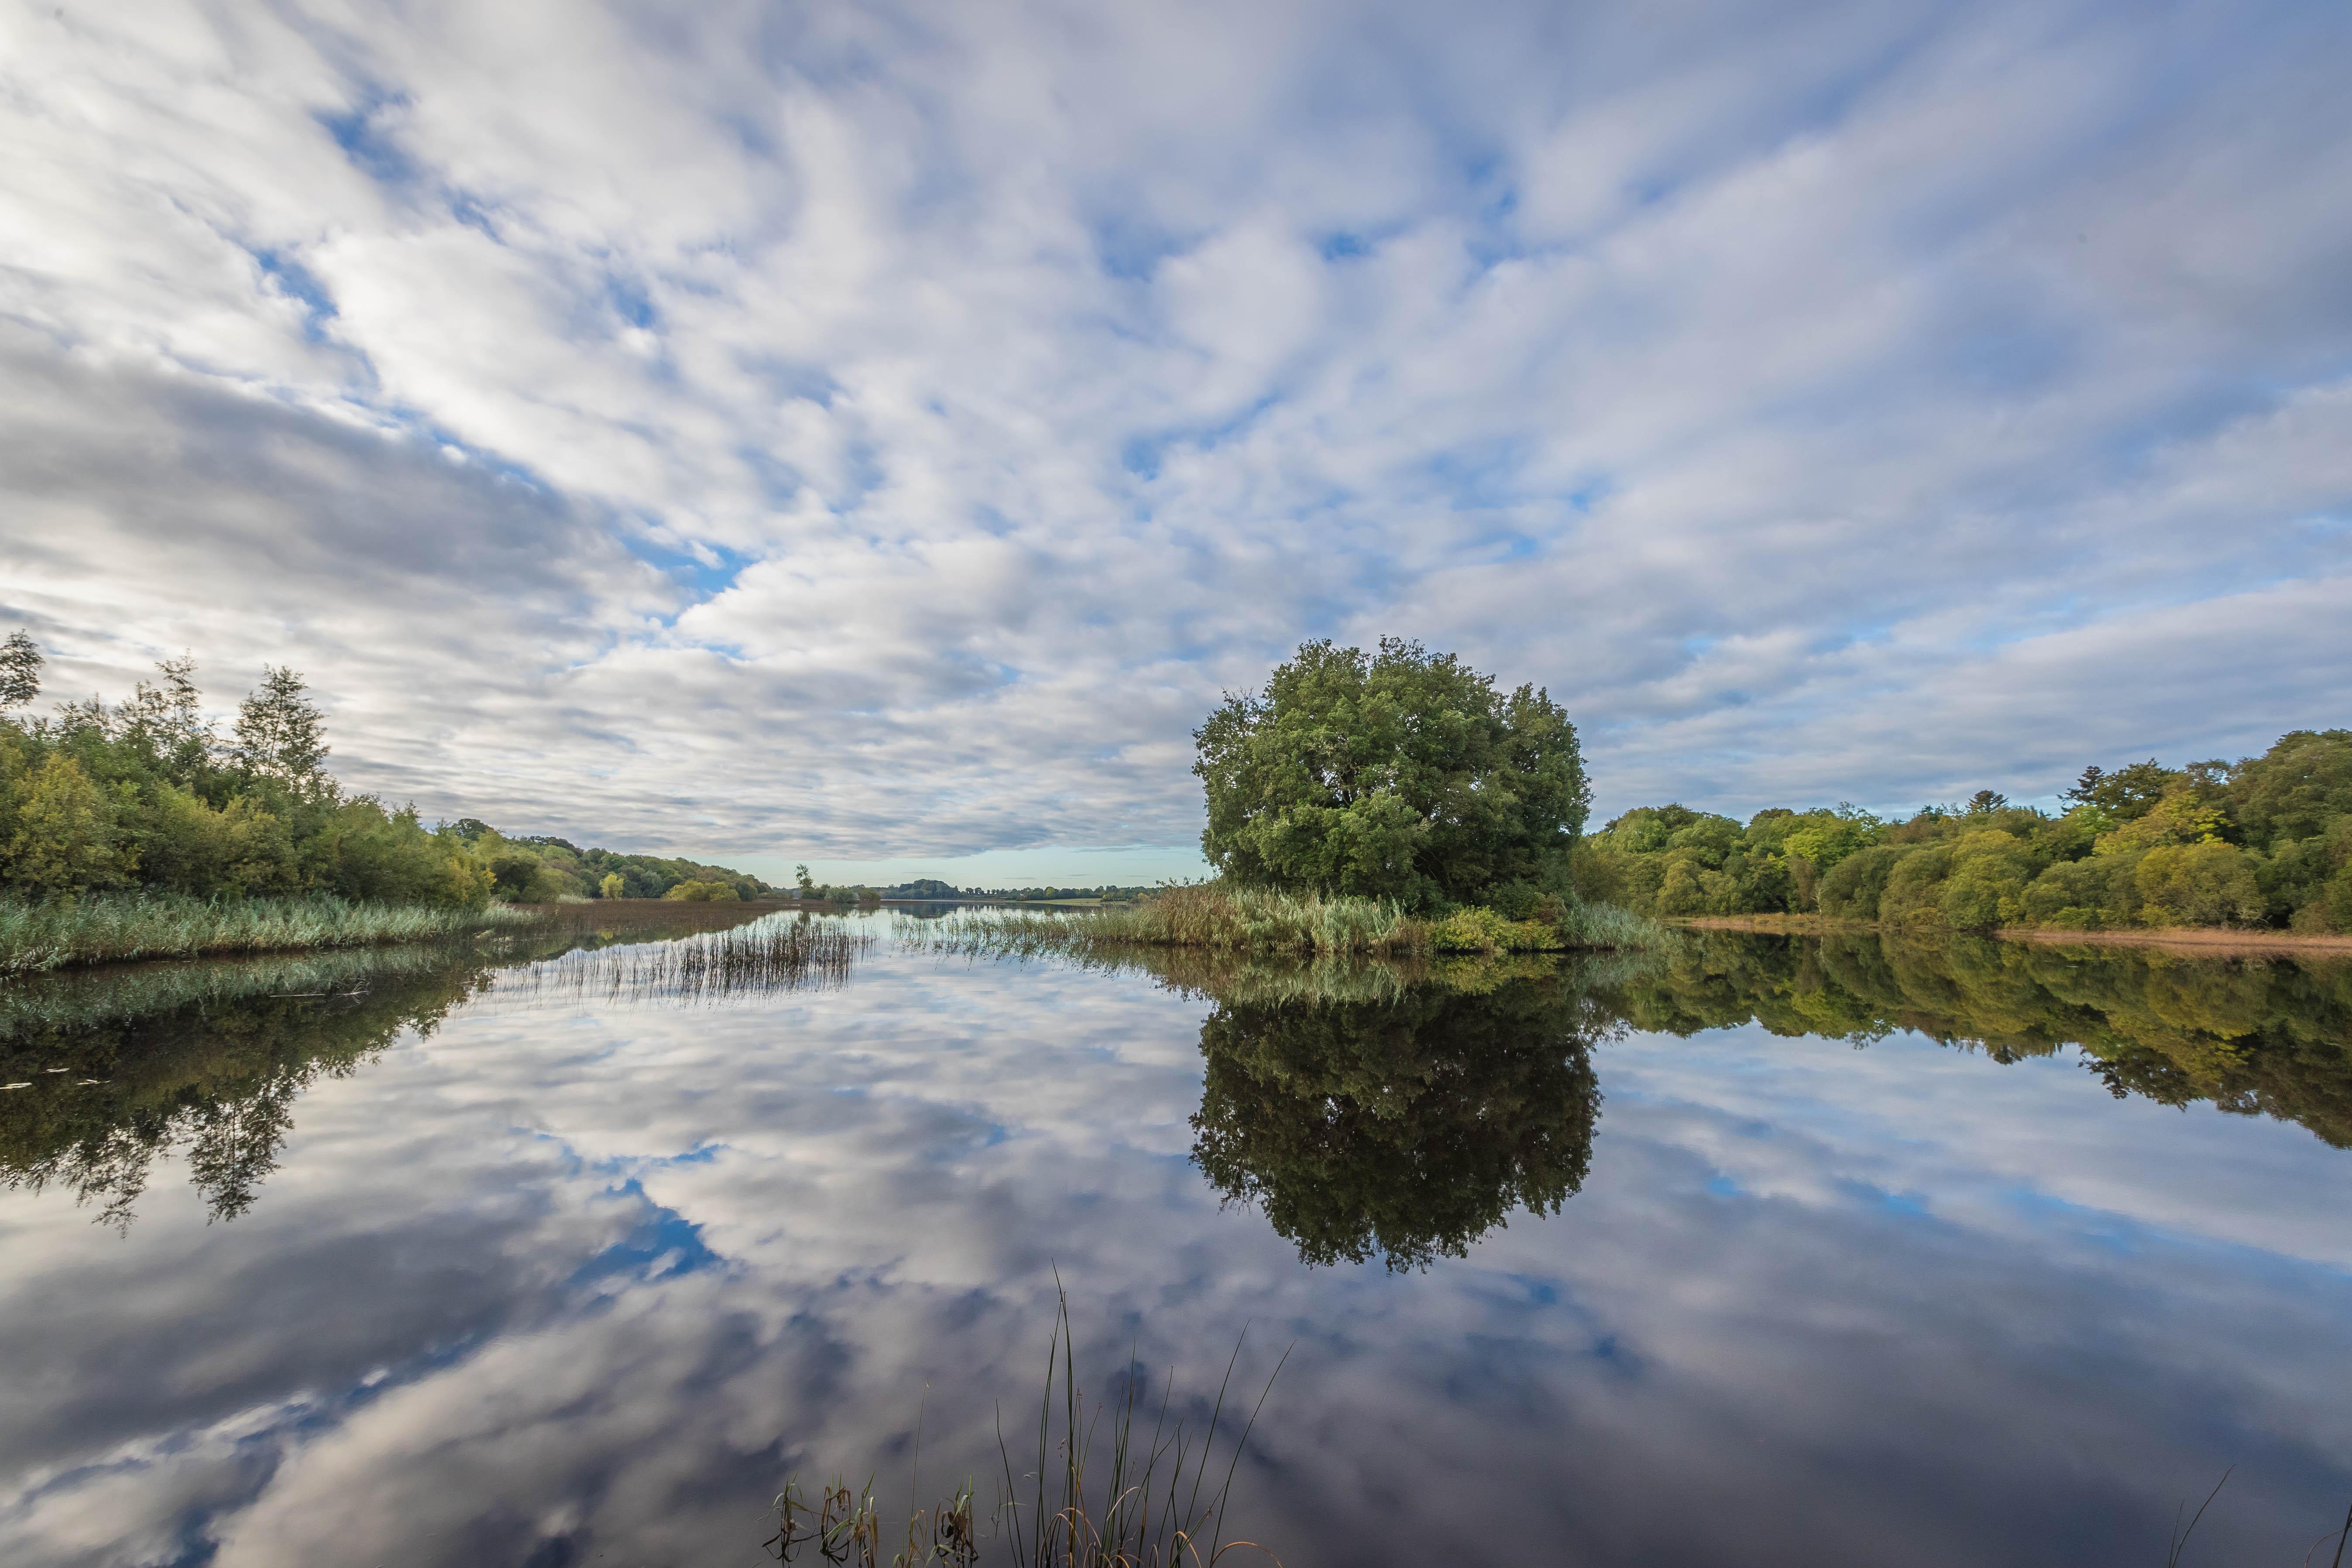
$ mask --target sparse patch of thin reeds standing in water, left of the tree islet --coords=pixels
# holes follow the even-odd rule
[[[727,931],[572,952],[553,964],[501,976],[499,994],[703,1004],[835,987],[849,980],[849,969],[873,940],[842,919],[767,914]]]

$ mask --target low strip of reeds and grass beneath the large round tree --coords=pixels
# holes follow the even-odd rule
[[[915,945],[950,952],[1200,947],[1390,961],[1470,952],[1621,952],[1672,940],[1658,922],[1613,905],[1571,905],[1550,922],[1512,922],[1475,905],[1444,919],[1418,919],[1378,898],[1275,893],[1221,882],[1176,886],[1136,905],[1082,914],[967,910],[943,922],[908,922],[906,936]]]

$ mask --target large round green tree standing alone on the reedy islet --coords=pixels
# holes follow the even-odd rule
[[[1395,637],[1371,656],[1310,642],[1192,738],[1202,851],[1249,886],[1425,907],[1564,884],[1592,799],[1576,726],[1548,693],[1496,691]]]

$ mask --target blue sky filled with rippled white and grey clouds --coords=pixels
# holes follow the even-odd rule
[[[2352,719],[2340,5],[19,5],[0,623],[781,877],[1200,870],[1298,642],[1597,820]]]

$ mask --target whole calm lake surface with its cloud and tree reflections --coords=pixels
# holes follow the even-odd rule
[[[2288,1568],[2352,1502],[2345,969],[614,952],[0,992],[0,1561],[750,1566],[917,1410],[985,1500],[1056,1269],[1098,1385],[1291,1347],[1291,1568],[2157,1566],[2225,1469],[2183,1561]]]

